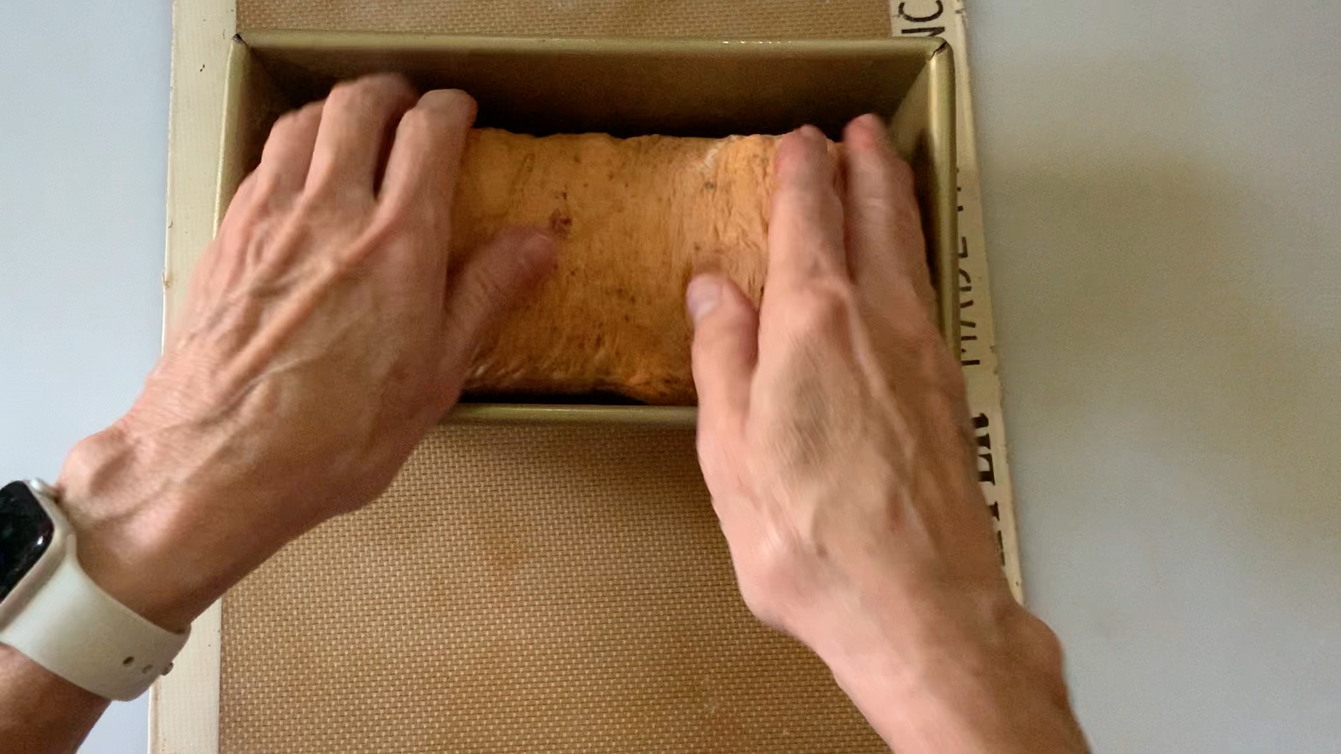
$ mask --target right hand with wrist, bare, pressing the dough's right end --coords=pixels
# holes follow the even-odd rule
[[[842,193],[818,130],[779,145],[759,311],[720,276],[687,291],[742,596],[901,753],[1082,750],[1055,639],[998,566],[912,170],[872,115],[841,153]]]

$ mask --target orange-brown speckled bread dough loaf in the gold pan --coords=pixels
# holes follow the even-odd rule
[[[559,237],[558,268],[480,349],[467,390],[618,393],[692,405],[684,288],[763,294],[776,137],[469,136],[453,259],[510,225]]]

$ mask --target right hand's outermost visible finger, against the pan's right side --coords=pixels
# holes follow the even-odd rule
[[[912,291],[932,305],[931,272],[913,170],[889,149],[876,115],[862,115],[843,130],[848,172],[848,254],[858,291],[870,302],[898,301]]]

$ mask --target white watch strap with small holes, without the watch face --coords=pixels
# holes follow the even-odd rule
[[[172,667],[189,635],[154,625],[98,588],[70,542],[51,578],[0,629],[0,643],[80,688],[129,700]]]

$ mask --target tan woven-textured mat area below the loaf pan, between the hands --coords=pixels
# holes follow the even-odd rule
[[[220,751],[881,751],[685,431],[448,427],[224,601]]]

